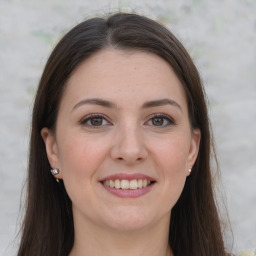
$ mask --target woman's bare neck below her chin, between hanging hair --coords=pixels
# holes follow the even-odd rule
[[[168,242],[169,223],[136,231],[105,229],[75,222],[74,246],[69,256],[173,256]]]

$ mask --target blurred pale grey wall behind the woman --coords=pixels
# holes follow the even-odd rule
[[[255,0],[0,0],[0,255],[17,249],[31,109],[44,64],[74,25],[117,10],[162,22],[193,57],[209,99],[234,251],[256,247]],[[227,241],[231,246],[230,235]]]

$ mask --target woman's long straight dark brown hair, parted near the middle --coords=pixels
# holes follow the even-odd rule
[[[26,214],[18,256],[67,256],[72,249],[71,201],[63,183],[58,184],[50,174],[40,131],[55,128],[72,72],[87,57],[108,47],[157,54],[182,82],[191,127],[201,130],[201,143],[192,174],[172,209],[169,243],[175,256],[226,255],[213,195],[212,140],[198,71],[182,44],[164,26],[137,14],[117,13],[77,25],[57,44],[45,66],[33,109]]]

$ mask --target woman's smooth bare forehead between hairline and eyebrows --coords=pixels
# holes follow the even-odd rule
[[[183,86],[161,57],[142,51],[101,50],[83,61],[68,80],[62,101],[87,97],[115,103],[175,98],[186,105]]]

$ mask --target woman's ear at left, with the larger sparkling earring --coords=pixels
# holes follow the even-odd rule
[[[50,129],[43,128],[41,130],[41,136],[44,140],[47,158],[48,158],[48,161],[49,161],[52,169],[55,169],[55,168],[60,169],[58,146],[57,146],[55,135],[53,134],[53,132]],[[54,177],[56,179],[62,179],[61,171],[59,174],[55,175]]]

